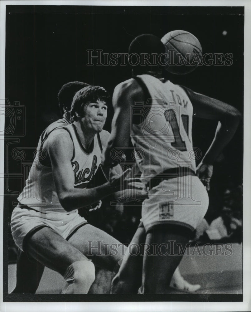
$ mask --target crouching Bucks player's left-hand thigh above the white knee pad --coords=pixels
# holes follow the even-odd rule
[[[49,227],[39,229],[27,240],[26,252],[62,275],[73,262],[88,260],[81,251]]]

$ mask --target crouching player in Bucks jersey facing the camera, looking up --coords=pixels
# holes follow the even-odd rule
[[[121,182],[127,182],[128,171],[113,175],[99,187],[86,189],[99,167],[102,146],[109,135],[102,130],[108,100],[107,91],[99,86],[87,86],[75,94],[73,123],[40,138],[26,186],[12,212],[16,245],[64,276],[62,293],[87,293],[95,278],[93,262],[113,271],[121,260],[119,252],[107,256],[111,244],[120,243],[89,225],[77,210],[120,190]],[[130,187],[130,183],[127,185]]]

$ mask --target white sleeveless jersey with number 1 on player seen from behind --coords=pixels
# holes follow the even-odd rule
[[[146,95],[145,102],[135,102],[131,108],[131,140],[142,183],[171,168],[195,171],[193,107],[185,90],[150,75],[135,79]]]

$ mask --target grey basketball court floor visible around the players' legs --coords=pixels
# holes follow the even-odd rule
[[[188,282],[201,285],[197,294],[242,294],[242,244],[216,246],[205,246],[204,249],[203,246],[199,246],[199,249],[189,247],[180,264],[181,274]],[[96,273],[91,293],[108,293],[110,272],[97,270]],[[46,268],[36,293],[59,294],[64,282],[60,274]],[[16,265],[11,264],[8,266],[9,293],[15,284]],[[184,292],[174,290],[173,293]]]

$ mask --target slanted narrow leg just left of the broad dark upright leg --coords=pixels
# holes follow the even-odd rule
[[[112,294],[137,294],[142,281],[142,244],[145,243],[146,232],[140,223],[132,241],[123,257],[118,273],[112,280]]]

